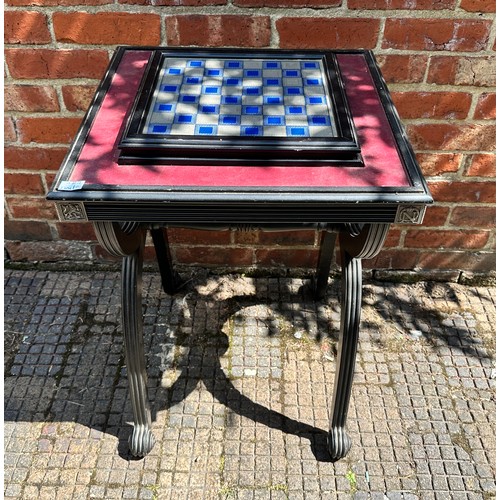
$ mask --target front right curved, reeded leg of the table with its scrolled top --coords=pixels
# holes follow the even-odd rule
[[[332,418],[328,436],[328,446],[333,460],[345,457],[351,447],[351,439],[347,435],[345,426],[356,365],[361,317],[363,272],[361,259],[377,255],[382,248],[388,229],[388,224],[356,225],[355,227],[346,225],[339,237],[342,264],[342,310]]]

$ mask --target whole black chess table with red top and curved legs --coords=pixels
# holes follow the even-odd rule
[[[122,327],[135,456],[154,445],[141,269],[152,236],[162,286],[180,280],[168,227],[321,232],[315,297],[338,238],[341,332],[329,447],[344,457],[361,312],[362,260],[392,223],[432,203],[370,51],[118,47],[47,198],[91,221],[122,257]]]

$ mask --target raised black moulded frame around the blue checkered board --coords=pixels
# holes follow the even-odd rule
[[[147,133],[144,129],[154,104],[155,89],[162,78],[165,60],[316,60],[325,75],[325,92],[330,100],[330,117],[337,135],[332,137],[270,137],[223,135],[169,135]],[[134,103],[126,118],[121,140],[119,163],[122,164],[280,164],[303,165],[342,163],[363,166],[354,122],[345,95],[336,55],[329,51],[276,50],[154,50]]]

